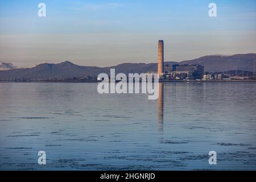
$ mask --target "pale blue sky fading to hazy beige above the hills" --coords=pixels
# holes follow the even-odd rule
[[[256,1],[0,0],[0,62],[18,67],[156,63],[160,39],[165,61],[256,53]]]

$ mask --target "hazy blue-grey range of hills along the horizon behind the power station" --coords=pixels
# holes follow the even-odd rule
[[[193,60],[170,62],[164,64],[201,64],[205,71],[209,72],[227,72],[234,70],[255,71],[256,53],[239,54],[233,56],[212,55],[203,56]],[[123,63],[113,67],[88,67],[80,66],[65,61],[59,64],[43,63],[32,68],[10,68],[0,71],[0,78],[72,78],[72,77],[97,77],[100,73],[110,74],[110,68],[115,68],[115,73],[146,73],[148,71],[157,71],[156,63]]]

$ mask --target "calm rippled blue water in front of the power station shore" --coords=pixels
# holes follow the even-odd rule
[[[0,169],[256,169],[255,90],[164,83],[148,100],[96,83],[0,83]]]

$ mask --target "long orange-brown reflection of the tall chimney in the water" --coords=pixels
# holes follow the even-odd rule
[[[163,132],[163,83],[158,85],[158,131]]]

